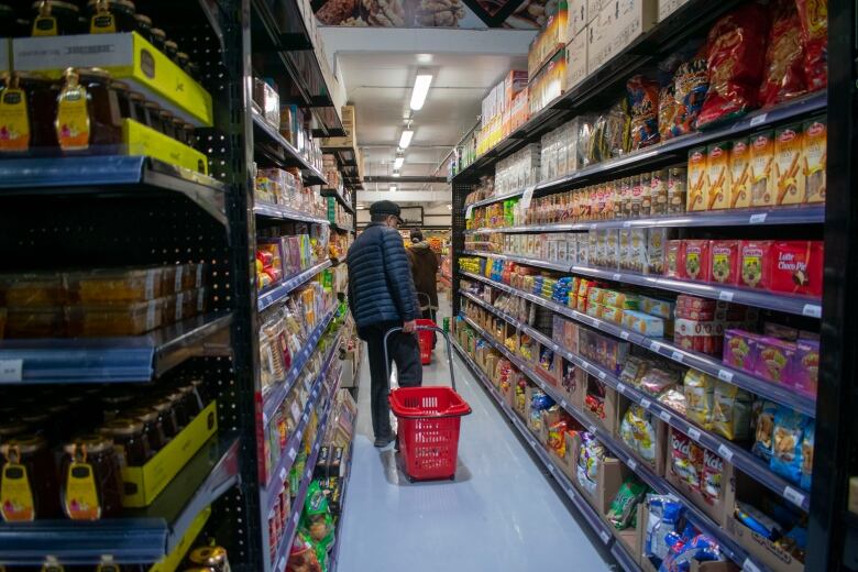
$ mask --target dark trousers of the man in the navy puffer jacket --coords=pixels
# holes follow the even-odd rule
[[[391,405],[387,394],[391,393],[391,380],[387,377],[384,364],[384,334],[391,328],[402,327],[399,322],[382,322],[361,328],[361,338],[366,340],[370,358],[371,393],[370,403],[373,414],[373,433],[376,439],[389,436]],[[424,381],[424,370],[420,364],[420,346],[413,333],[396,332],[387,338],[387,369],[391,361],[396,362],[400,387],[419,387]]]

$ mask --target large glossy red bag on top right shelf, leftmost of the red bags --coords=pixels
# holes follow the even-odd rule
[[[769,13],[756,2],[722,18],[710,31],[710,90],[697,118],[698,129],[757,107],[768,33]]]

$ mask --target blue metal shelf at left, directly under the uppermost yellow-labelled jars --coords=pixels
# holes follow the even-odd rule
[[[0,199],[89,196],[140,200],[180,194],[227,224],[227,186],[206,175],[144,156],[26,157],[0,161]]]

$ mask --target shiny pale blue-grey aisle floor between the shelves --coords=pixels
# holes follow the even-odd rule
[[[449,383],[442,345],[425,383]],[[473,414],[462,421],[457,480],[409,483],[394,452],[373,447],[365,353],[338,572],[618,570],[458,358]]]

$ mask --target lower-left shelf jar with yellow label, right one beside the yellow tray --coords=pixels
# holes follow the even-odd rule
[[[122,513],[122,474],[113,441],[88,435],[63,448],[61,501],[72,520],[99,520]]]

